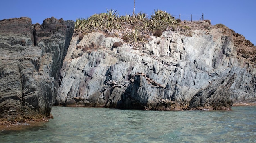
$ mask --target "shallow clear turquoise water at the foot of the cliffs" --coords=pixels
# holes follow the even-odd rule
[[[0,131],[1,143],[255,143],[256,106],[233,111],[53,107],[54,119]]]

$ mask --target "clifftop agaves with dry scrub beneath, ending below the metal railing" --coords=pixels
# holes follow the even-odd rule
[[[200,25],[210,30],[210,20],[204,21]],[[137,15],[120,16],[117,11],[107,9],[106,13],[94,14],[87,19],[77,18],[74,36],[79,35],[81,40],[87,33],[99,31],[105,33],[106,37],[118,37],[126,43],[138,46],[147,42],[151,35],[161,37],[162,32],[168,30],[179,31],[180,34],[191,37],[195,26],[188,23],[190,22],[182,22],[162,10],[155,10],[150,16],[141,12]]]

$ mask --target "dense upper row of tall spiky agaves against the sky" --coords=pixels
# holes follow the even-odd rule
[[[146,13],[138,13],[137,15],[126,14],[119,16],[117,11],[112,9],[107,13],[94,14],[91,17],[84,19],[76,19],[75,31],[83,31],[90,29],[111,30],[125,29],[126,26],[141,30],[165,30],[168,26],[176,26],[178,20],[165,11],[155,10],[148,18]]]

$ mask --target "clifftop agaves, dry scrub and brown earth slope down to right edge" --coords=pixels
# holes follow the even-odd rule
[[[118,37],[132,46],[141,47],[148,42],[151,35],[161,37],[163,31],[177,31],[182,35],[191,37],[195,29],[211,31],[214,27],[223,30],[224,35],[233,38],[238,59],[242,57],[247,59],[248,62],[254,63],[254,66],[256,65],[256,48],[243,35],[228,30],[229,28],[223,24],[213,26],[210,20],[182,22],[162,10],[155,10],[150,16],[141,12],[136,15],[120,16],[117,11],[107,9],[106,13],[94,14],[87,19],[77,18],[74,35],[78,35],[79,40],[81,40],[87,33],[99,31],[105,33],[106,37]],[[230,33],[226,33],[227,31],[230,31]],[[117,45],[113,46],[116,47]]]

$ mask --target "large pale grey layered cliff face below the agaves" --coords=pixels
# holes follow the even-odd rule
[[[165,31],[142,47],[112,47],[119,41],[100,32],[73,37],[55,105],[230,110],[255,98],[256,70],[236,57],[230,29]]]

